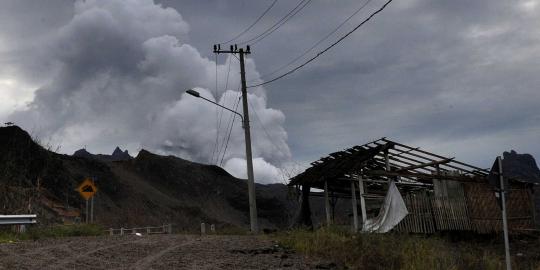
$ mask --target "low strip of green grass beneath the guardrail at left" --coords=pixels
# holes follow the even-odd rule
[[[20,240],[38,240],[43,238],[59,238],[73,236],[99,236],[104,235],[103,227],[95,224],[32,226],[25,233],[11,231],[0,232],[0,242],[10,243]]]

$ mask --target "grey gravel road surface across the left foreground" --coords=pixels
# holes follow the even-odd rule
[[[0,244],[0,269],[312,269],[261,236],[73,237]]]

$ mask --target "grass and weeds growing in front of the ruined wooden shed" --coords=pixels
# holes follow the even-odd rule
[[[505,269],[503,250],[489,243],[453,242],[441,236],[352,234],[323,227],[274,234],[282,246],[349,269]],[[513,258],[516,269],[540,269],[538,258]]]

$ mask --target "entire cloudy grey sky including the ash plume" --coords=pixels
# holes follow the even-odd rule
[[[238,60],[216,56],[212,45],[273,3],[2,1],[0,121],[62,153],[144,148],[245,177],[239,119],[184,91],[241,111]],[[248,84],[303,63],[384,3],[276,1],[235,42],[305,6],[251,44]],[[249,89],[256,181],[283,182],[328,153],[380,137],[480,167],[510,149],[540,157],[539,25],[535,0],[393,1],[315,61]]]

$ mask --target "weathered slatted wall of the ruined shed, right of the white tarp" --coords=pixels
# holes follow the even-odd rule
[[[528,189],[512,189],[507,200],[508,228],[512,232],[535,228],[533,195]],[[422,192],[403,196],[409,214],[394,228],[399,232],[502,231],[501,210],[495,194],[484,183],[464,184],[461,196],[435,196]]]

